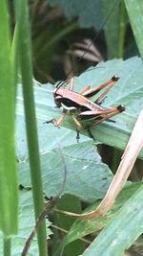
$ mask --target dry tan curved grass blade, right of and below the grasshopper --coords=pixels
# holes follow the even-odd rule
[[[139,154],[139,151],[141,151],[141,149],[143,148],[142,123],[143,109],[141,110],[134,125],[132,135],[122,155],[121,162],[118,166],[116,174],[112,179],[107,194],[102,199],[97,208],[89,213],[84,214],[75,214],[72,212],[56,210],[57,212],[87,221],[100,218],[108,213],[118,194],[121,192],[123,186],[125,185],[129,175],[131,174],[134,162]]]

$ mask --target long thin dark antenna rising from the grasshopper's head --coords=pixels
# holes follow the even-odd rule
[[[92,41],[95,41],[95,40],[98,38],[98,36],[99,36],[100,33],[101,33],[101,30],[105,27],[106,23],[108,22],[108,20],[109,20],[111,14],[112,14],[114,8],[116,7],[117,4],[119,4],[120,1],[121,1],[121,0],[115,0],[115,1],[114,1],[114,4],[112,5],[111,10],[108,12],[107,17],[105,18],[105,20],[103,21],[103,23],[102,23],[101,26],[99,27],[98,33],[97,33],[95,36],[92,37]],[[81,61],[81,60],[85,57],[86,53],[87,53],[88,50],[91,48],[91,46],[92,46],[92,42],[89,44],[87,50],[81,55],[81,57],[79,57],[78,61]],[[66,77],[69,77],[70,74],[72,73],[72,71],[73,71],[73,68],[69,70],[69,72],[66,74]],[[59,81],[59,82],[56,84],[56,88],[59,89],[61,86],[63,86],[65,83],[67,83],[67,82],[70,81],[71,79],[72,79],[72,78],[68,78],[68,79],[65,80],[65,81]]]

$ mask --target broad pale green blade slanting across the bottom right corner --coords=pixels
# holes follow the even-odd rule
[[[121,256],[143,232],[143,185],[82,254]]]

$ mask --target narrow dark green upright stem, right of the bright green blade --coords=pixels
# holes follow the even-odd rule
[[[27,1],[20,2],[20,65],[23,81],[24,107],[26,115],[26,128],[31,166],[31,184],[34,201],[35,219],[44,208],[43,189],[40,171],[40,159],[38,151],[37,128],[35,121],[35,109],[32,91],[32,67],[31,67],[31,39],[29,10]],[[39,255],[47,254],[46,223],[43,221],[38,229]]]

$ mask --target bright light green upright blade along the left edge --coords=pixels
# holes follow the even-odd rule
[[[16,234],[18,192],[15,160],[15,87],[12,82],[10,28],[7,1],[0,7],[0,230],[5,236]]]

